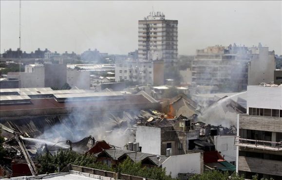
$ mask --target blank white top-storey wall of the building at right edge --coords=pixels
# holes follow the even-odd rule
[[[282,87],[247,86],[247,113],[249,107],[282,109]]]

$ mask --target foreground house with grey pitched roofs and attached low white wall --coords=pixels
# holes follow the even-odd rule
[[[112,148],[105,149],[94,156],[98,162],[113,167],[127,158],[132,162],[141,162],[143,167],[163,167],[166,168],[166,174],[170,174],[172,178],[177,178],[179,173],[203,173],[203,156],[201,153],[168,157]]]

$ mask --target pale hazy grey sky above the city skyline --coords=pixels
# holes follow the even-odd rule
[[[282,54],[282,1],[21,1],[21,47],[80,54],[127,54],[138,46],[138,19],[154,11],[178,20],[178,53],[238,43]],[[0,52],[19,47],[19,1],[0,1]]]

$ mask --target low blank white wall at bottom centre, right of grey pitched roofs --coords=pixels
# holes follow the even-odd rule
[[[162,167],[166,168],[166,174],[171,172],[172,178],[178,178],[178,173],[201,174],[203,172],[203,158],[201,153],[170,156]]]

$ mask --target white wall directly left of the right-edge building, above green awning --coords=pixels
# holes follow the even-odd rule
[[[236,161],[236,145],[234,144],[235,137],[235,135],[214,136],[215,148],[224,155],[224,159],[228,162]]]

